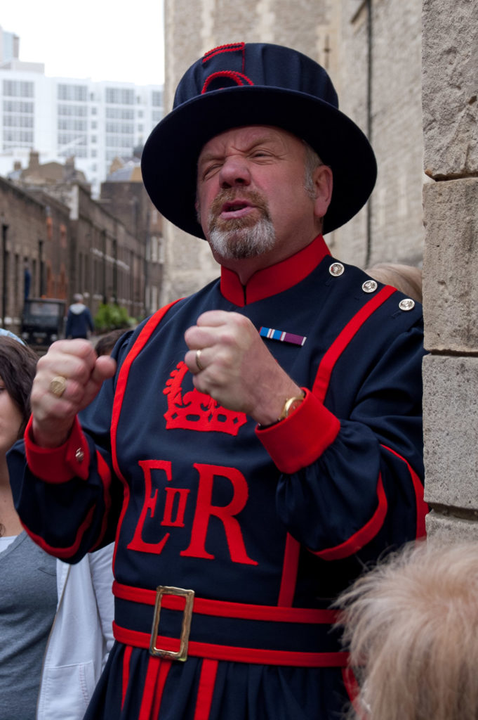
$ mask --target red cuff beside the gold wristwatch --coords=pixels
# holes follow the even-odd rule
[[[311,465],[331,445],[340,420],[312,392],[303,388],[304,401],[292,415],[256,434],[280,472],[290,475]]]

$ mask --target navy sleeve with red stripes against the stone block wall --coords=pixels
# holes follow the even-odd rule
[[[315,462],[277,486],[290,534],[322,559],[364,559],[423,535],[423,334],[400,334],[360,384],[348,416]],[[349,366],[349,377],[356,372]],[[347,376],[332,392],[344,392]],[[317,428],[319,431],[319,428]],[[297,431],[298,432],[298,431]]]

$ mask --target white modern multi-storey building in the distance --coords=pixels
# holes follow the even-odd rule
[[[129,158],[162,117],[162,86],[45,76],[18,59],[19,38],[0,27],[0,175],[40,163],[75,167],[99,193],[114,158]]]

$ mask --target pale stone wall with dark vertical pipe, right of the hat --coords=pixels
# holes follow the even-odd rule
[[[343,0],[341,6],[341,109],[369,136],[378,176],[369,207],[334,233],[334,253],[359,266],[420,265],[421,0]]]

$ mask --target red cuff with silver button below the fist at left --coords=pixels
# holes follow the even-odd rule
[[[45,482],[66,482],[72,477],[88,477],[90,450],[78,418],[75,418],[70,437],[58,448],[42,448],[33,441],[32,418],[24,434],[29,469]]]

